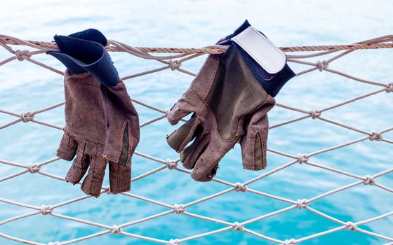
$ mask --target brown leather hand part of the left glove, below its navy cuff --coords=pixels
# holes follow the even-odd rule
[[[131,189],[131,156],[139,141],[138,113],[122,81],[101,85],[90,73],[65,72],[65,134],[57,154],[72,160],[66,180],[98,197],[109,162],[111,193]]]

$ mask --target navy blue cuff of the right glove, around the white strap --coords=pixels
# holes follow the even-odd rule
[[[295,73],[292,71],[292,69],[288,66],[288,64],[285,64],[284,68],[281,69],[278,73],[268,73],[265,69],[258,64],[258,62],[253,59],[248,53],[241,48],[237,43],[232,42],[230,39],[233,38],[234,36],[237,36],[238,34],[241,33],[241,31],[244,31],[246,28],[250,27],[250,23],[246,20],[239,28],[237,28],[233,34],[230,34],[229,36],[225,37],[224,41],[220,41],[220,44],[226,45],[232,45],[233,48],[235,48],[243,57],[244,61],[250,67],[251,71],[253,72],[254,76],[258,79],[260,84],[262,85],[263,89],[270,94],[272,97],[275,97],[281,88],[295,76]],[[260,31],[259,31],[260,32]],[[260,32],[262,34],[262,32]],[[262,34],[264,35],[264,34]],[[265,35],[264,35],[265,36]]]

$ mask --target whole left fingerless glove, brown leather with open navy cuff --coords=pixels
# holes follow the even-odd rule
[[[140,138],[138,113],[104,48],[100,31],[55,36],[65,64],[65,127],[56,155],[72,160],[66,181],[98,197],[109,162],[111,193],[131,190],[131,157]]]

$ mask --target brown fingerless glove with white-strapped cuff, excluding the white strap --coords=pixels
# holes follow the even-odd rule
[[[238,141],[245,169],[267,165],[267,112],[275,104],[274,96],[295,74],[286,64],[278,73],[269,74],[231,42],[249,26],[245,22],[221,40],[230,43],[227,50],[208,56],[188,90],[168,112],[172,125],[193,112],[191,119],[166,139],[180,152],[183,165],[193,169],[191,176],[196,181],[211,181],[218,162]]]

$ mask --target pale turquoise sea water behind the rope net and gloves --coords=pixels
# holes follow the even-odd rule
[[[232,33],[246,18],[279,46],[353,43],[376,36],[392,34],[393,4],[390,1],[5,1],[1,3],[0,33],[30,40],[52,40],[54,34],[71,34],[87,28],[100,29],[107,38],[134,46],[202,47],[215,43]],[[161,66],[159,62],[142,60],[131,55],[113,53],[121,76]],[[0,60],[10,57],[0,49]],[[392,50],[353,52],[331,64],[333,69],[354,76],[392,83]],[[53,57],[36,59],[62,70]],[[184,67],[194,72],[204,57],[186,62]],[[308,68],[290,64],[295,71]],[[126,81],[131,97],[161,109],[170,108],[187,88],[192,78],[171,70],[161,71]],[[291,80],[277,102],[311,110],[321,109],[357,97],[379,87],[354,82],[332,73],[314,71]],[[8,111],[35,111],[63,100],[62,77],[29,62],[13,61],[0,67],[0,108]],[[382,92],[338,109],[324,116],[361,130],[383,130],[392,127],[393,94]],[[140,122],[159,113],[135,105]],[[63,125],[63,107],[41,113],[36,119]],[[301,113],[275,107],[269,113],[270,123],[290,120]],[[15,119],[0,113],[0,125]],[[176,126],[177,127],[177,126]],[[143,127],[137,151],[166,160],[178,155],[166,144],[165,134],[176,127],[166,120]],[[18,123],[0,130],[0,159],[12,162],[42,162],[54,158],[62,132],[34,123]],[[383,134],[393,139],[393,132]],[[311,153],[363,137],[354,131],[320,120],[302,120],[269,132],[269,148],[296,155]],[[364,176],[392,167],[392,145],[382,141],[362,141],[312,158],[313,162]],[[252,179],[266,171],[284,165],[291,159],[268,154],[267,170],[250,172],[241,167],[239,146],[220,162],[217,177],[235,183]],[[43,167],[43,171],[65,176],[70,163],[58,161]],[[134,156],[133,176],[138,176],[161,164]],[[0,165],[0,178],[20,171]],[[291,200],[309,199],[329,190],[353,183],[354,179],[332,174],[307,165],[293,165],[268,176],[249,187]],[[393,188],[393,175],[378,178],[378,182]],[[105,180],[105,184],[107,179]],[[131,193],[159,200],[166,204],[181,204],[218,193],[227,187],[218,183],[197,183],[187,174],[165,169],[135,181]],[[0,197],[25,204],[58,204],[84,195],[77,186],[41,176],[24,174],[0,183]],[[251,193],[231,192],[213,200],[187,208],[187,211],[223,221],[246,221],[288,207],[285,202]],[[310,207],[342,221],[362,221],[393,210],[393,195],[375,186],[357,186],[336,193]],[[65,216],[119,225],[136,221],[168,209],[122,195],[102,195],[98,199],[69,204],[56,209]],[[0,222],[27,214],[31,209],[0,202]],[[338,227],[305,209],[293,209],[246,225],[246,228],[277,239],[299,239]],[[124,231],[159,239],[174,239],[198,235],[219,228],[213,222],[183,215],[170,214],[152,221],[132,225]],[[393,217],[363,225],[361,228],[381,235],[393,236]],[[95,228],[53,216],[32,216],[0,225],[0,232],[31,241],[48,243],[67,241],[100,232]],[[382,244],[378,239],[360,232],[342,230],[331,235],[305,241],[303,244]],[[17,244],[0,237],[0,244]],[[124,236],[103,235],[76,244],[149,244],[147,241]],[[229,230],[218,235],[188,241],[185,244],[272,244],[246,232]]]

